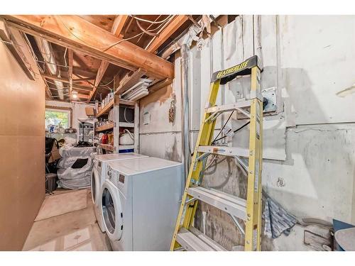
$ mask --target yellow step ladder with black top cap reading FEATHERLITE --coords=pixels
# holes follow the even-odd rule
[[[237,76],[251,75],[251,96],[249,100],[234,104],[215,106],[220,84],[226,84]],[[227,146],[215,146],[212,143],[217,117],[229,111],[242,113],[250,119],[249,149]],[[261,168],[262,168],[262,130],[263,96],[261,96],[261,70],[258,57],[254,55],[241,64],[212,75],[209,98],[192,157],[186,187],[182,195],[173,240],[170,250],[225,250],[192,226],[198,201],[210,204],[230,214],[241,232],[243,228],[236,221],[241,218],[246,222],[244,250],[261,250]],[[210,154],[235,157],[248,172],[246,200],[200,187],[207,156]],[[246,165],[245,158],[249,158]],[[236,217],[236,218],[235,218]]]

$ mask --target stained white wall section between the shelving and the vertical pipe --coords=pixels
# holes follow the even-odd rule
[[[174,123],[169,109],[176,99]],[[139,153],[181,162],[180,57],[175,60],[173,84],[149,94],[139,104]]]

